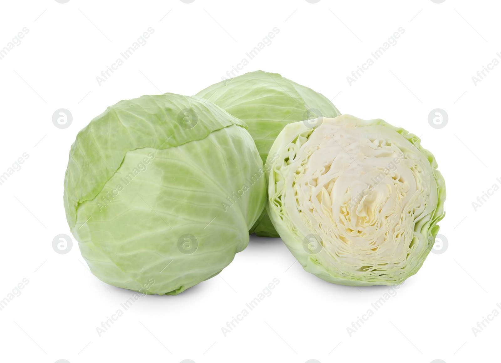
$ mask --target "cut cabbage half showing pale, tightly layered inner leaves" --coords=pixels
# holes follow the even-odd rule
[[[287,125],[271,154],[267,210],[304,269],[343,285],[415,274],[444,217],[445,183],[415,135],[351,115]]]

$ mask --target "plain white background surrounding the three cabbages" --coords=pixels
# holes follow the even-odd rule
[[[167,15],[166,15],[167,14]],[[501,52],[495,1],[195,0],[2,2],[0,48],[29,33],[0,60],[0,299],[29,283],[0,311],[0,360],[71,363],[499,361],[499,202],[472,202],[499,169]],[[96,81],[149,27],[147,44],[101,85]],[[327,283],[305,272],[280,239],[253,236],[219,276],[178,296],[138,300],[101,336],[96,327],[132,292],[100,283],[76,241],[65,255],[52,240],[70,234],[63,179],[77,132],[109,105],[143,94],[193,95],[218,82],[272,31],[280,33],[242,73],[280,73],[333,99],[342,113],[383,118],[422,139],[447,185],[442,254],[351,336],[347,327],[389,291]],[[405,33],[356,82],[347,76],[398,28]],[[55,110],[73,123],[59,129]],[[432,109],[449,117],[436,129]],[[274,278],[280,283],[226,336],[221,327]],[[374,310],[374,309],[373,309]]]

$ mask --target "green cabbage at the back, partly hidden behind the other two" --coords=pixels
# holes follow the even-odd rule
[[[265,168],[276,161],[270,148],[289,123],[336,117],[338,109],[324,95],[277,73],[256,71],[213,84],[197,93],[248,125]],[[280,237],[266,210],[249,233]]]

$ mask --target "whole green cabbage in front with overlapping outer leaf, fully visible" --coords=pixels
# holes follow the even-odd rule
[[[175,295],[221,272],[266,202],[245,127],[199,97],[165,94],[120,101],[81,130],[64,206],[92,273]]]

